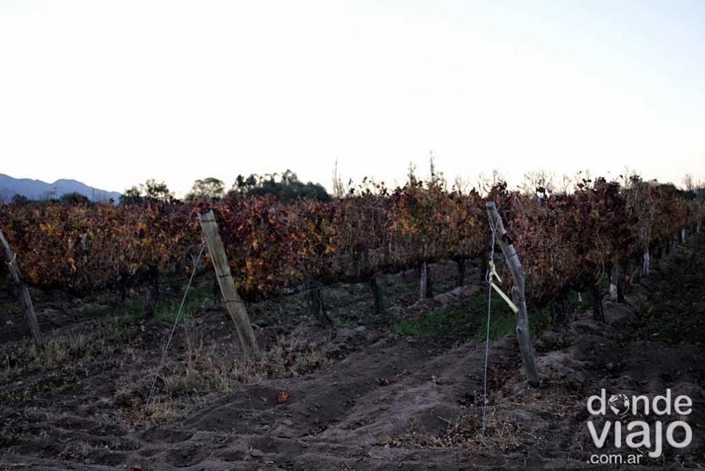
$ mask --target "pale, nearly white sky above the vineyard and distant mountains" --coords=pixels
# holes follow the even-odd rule
[[[0,172],[705,180],[704,2],[502,3],[0,0]]]

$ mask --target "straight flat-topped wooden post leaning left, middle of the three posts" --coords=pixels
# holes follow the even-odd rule
[[[207,213],[200,213],[198,220],[201,223],[208,251],[213,260],[223,300],[226,308],[228,308],[230,317],[235,322],[235,328],[238,329],[240,343],[243,345],[245,356],[257,358],[259,357],[259,348],[257,347],[257,341],[255,341],[255,332],[252,332],[252,324],[250,324],[250,317],[247,315],[247,310],[245,310],[245,303],[240,299],[238,290],[235,289],[235,282],[230,271],[230,265],[228,265],[228,257],[223,248],[223,239],[221,239],[218,232],[218,224],[213,215],[213,210],[211,209]]]

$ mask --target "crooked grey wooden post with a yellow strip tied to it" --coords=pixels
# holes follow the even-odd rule
[[[529,376],[529,383],[533,386],[539,386],[541,379],[539,378],[539,370],[536,367],[536,358],[534,358],[534,348],[531,343],[531,337],[529,336],[529,319],[527,318],[527,303],[524,296],[524,269],[522,268],[522,263],[519,260],[519,256],[517,256],[517,251],[514,249],[512,241],[506,237],[507,231],[504,229],[502,218],[500,218],[497,212],[494,201],[487,203],[486,208],[491,227],[494,227],[499,245],[502,248],[502,253],[504,253],[504,257],[507,260],[507,265],[509,266],[510,272],[512,272],[512,278],[514,280],[512,299],[517,305],[517,308],[519,308],[516,313],[516,329],[519,350],[524,360],[524,368]]]

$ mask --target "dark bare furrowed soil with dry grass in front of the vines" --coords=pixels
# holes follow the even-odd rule
[[[705,237],[693,237],[633,286],[627,303],[606,301],[606,323],[580,313],[543,332],[541,387],[525,382],[515,337],[492,341],[484,437],[484,344],[373,325],[264,325],[256,332],[269,360],[247,363],[226,315],[213,310],[177,329],[147,407],[171,325],[118,329],[86,320],[80,306],[39,299],[42,328],[64,341],[39,357],[20,339],[21,314],[4,309],[0,470],[701,469],[704,263]],[[434,302],[462,304],[472,291]],[[59,346],[70,350],[63,360]],[[587,463],[594,453],[646,453],[610,439],[594,446],[586,403],[602,388],[689,396],[692,413],[681,418],[692,443],[644,455],[642,465]]]

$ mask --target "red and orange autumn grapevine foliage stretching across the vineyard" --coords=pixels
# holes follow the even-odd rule
[[[236,287],[259,299],[283,287],[483,257],[491,240],[486,201],[505,220],[527,294],[537,301],[591,289],[627,261],[648,260],[683,228],[699,230],[705,217],[701,201],[668,187],[598,179],[556,195],[520,194],[500,183],[480,196],[417,182],[330,202],[229,196],[207,204],[7,204],[0,227],[36,287],[79,295],[141,283],[158,289],[160,274],[188,270],[202,244],[197,213],[212,208]]]

